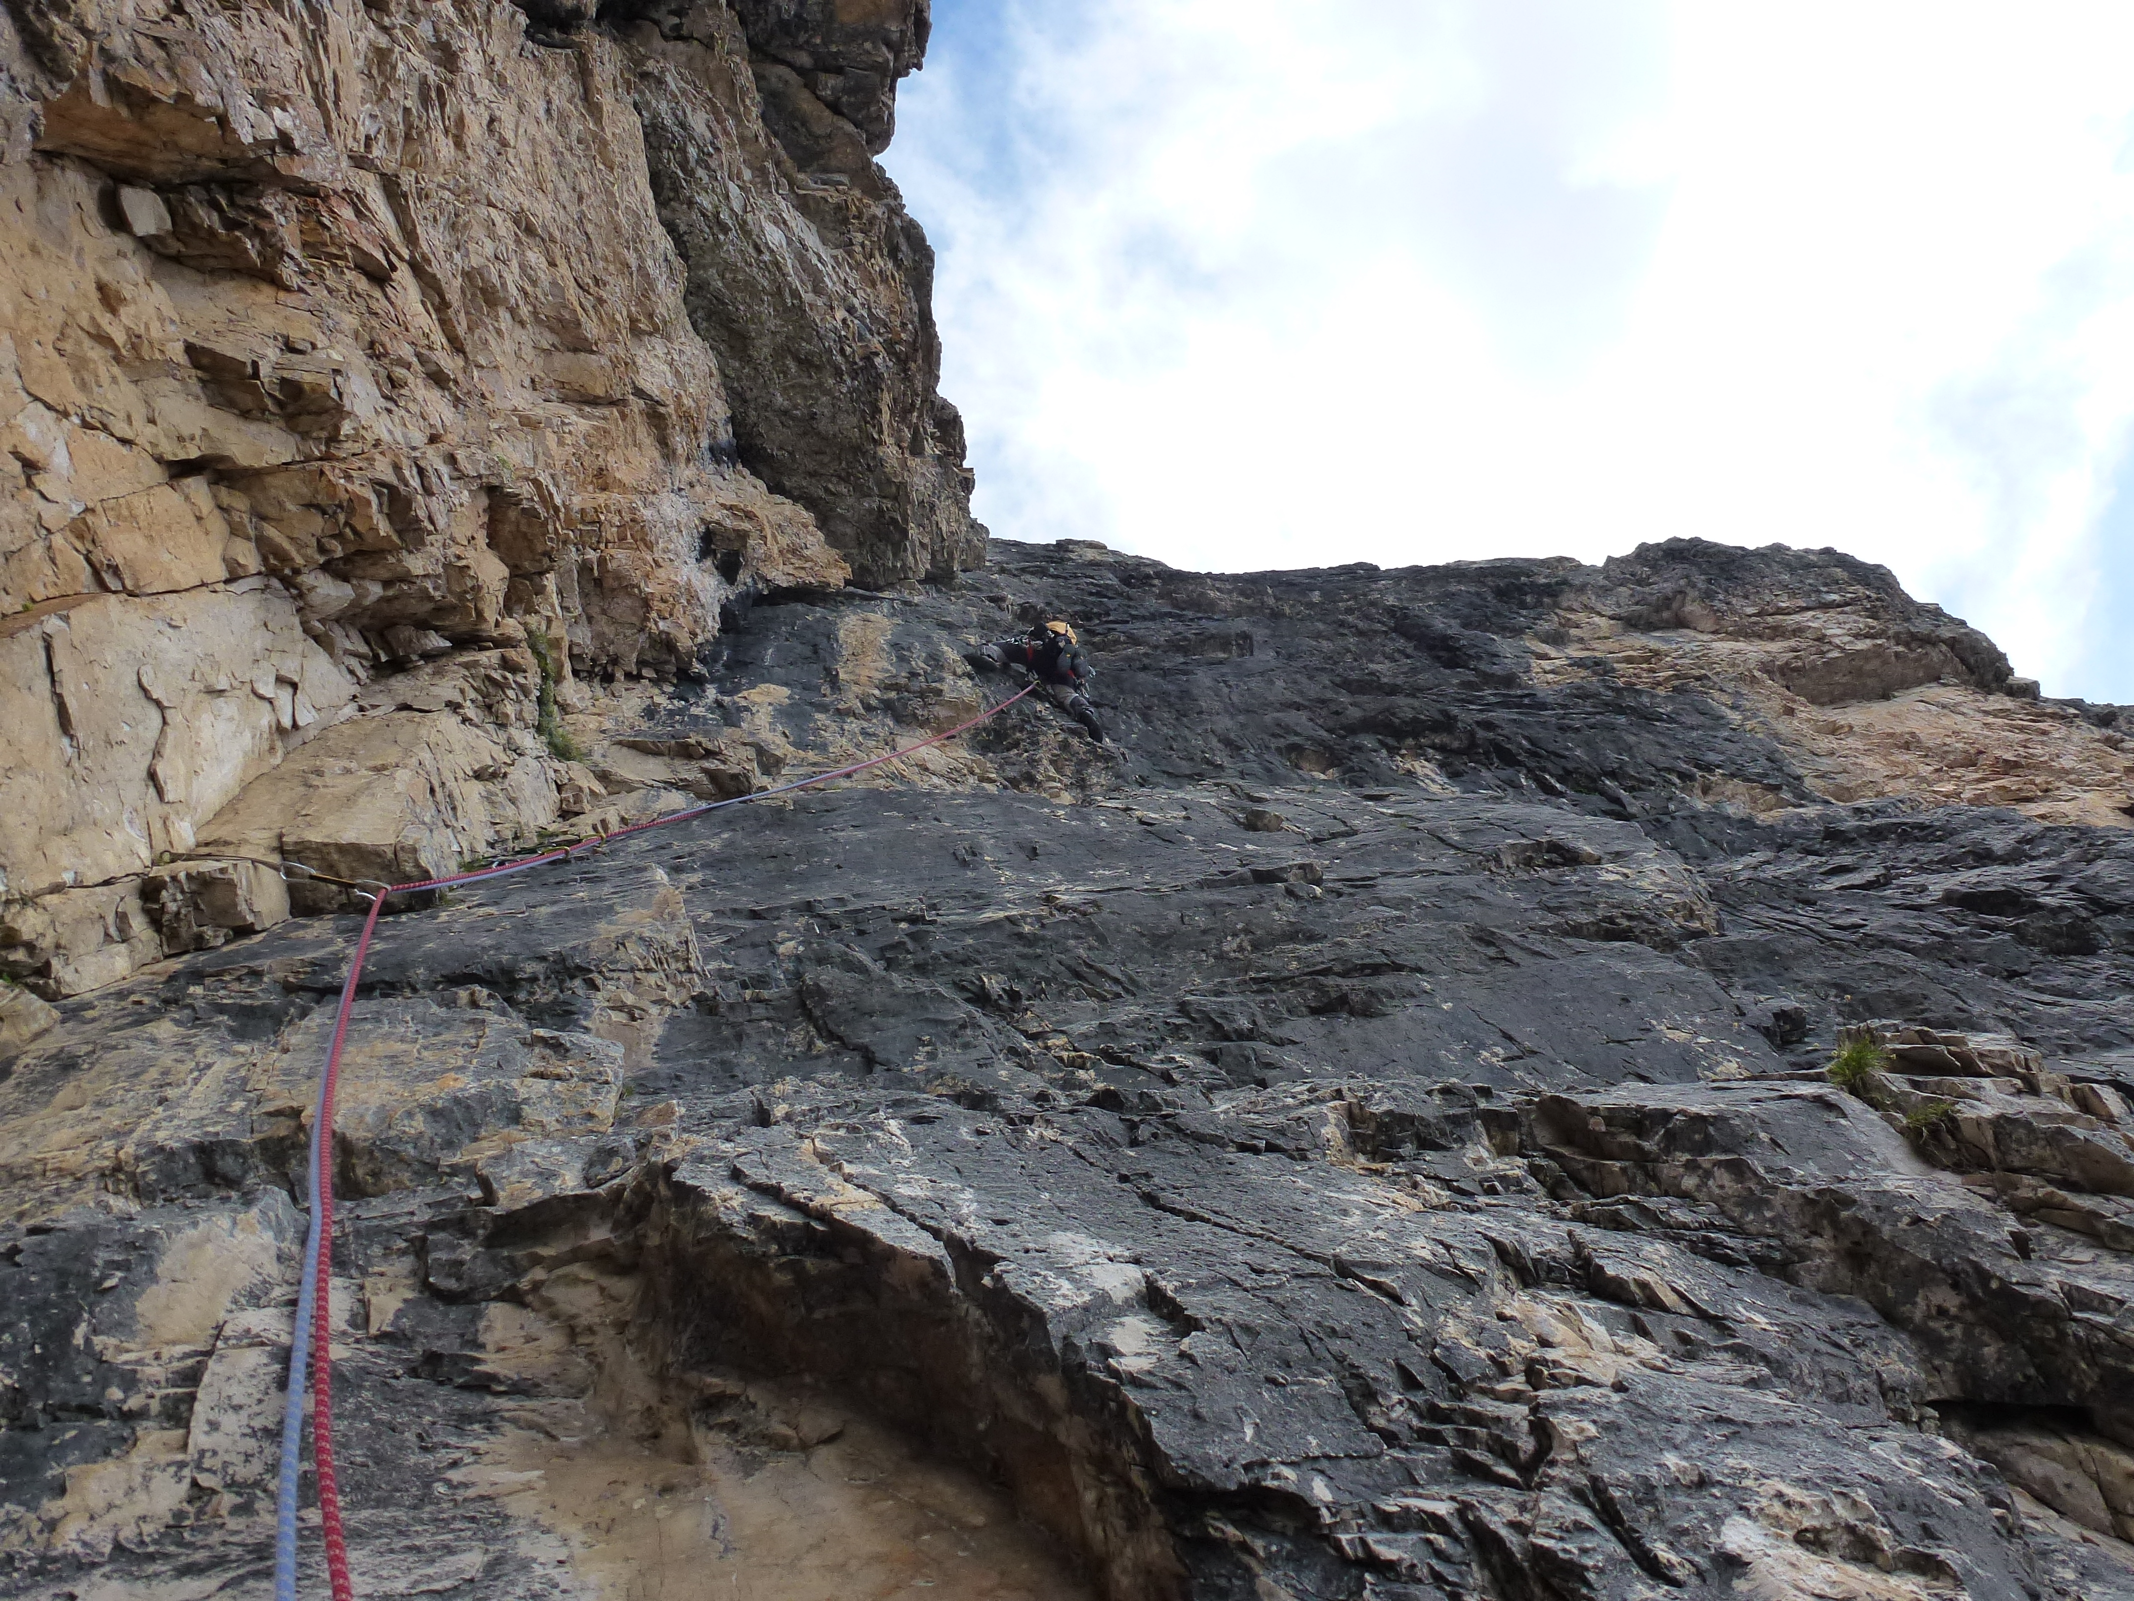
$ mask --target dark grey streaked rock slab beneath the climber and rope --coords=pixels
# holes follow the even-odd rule
[[[1116,743],[1018,704],[382,924],[361,1592],[2134,1597],[2115,709],[1829,553],[994,542],[585,687],[574,826],[950,728],[1039,617]],[[369,717],[508,728],[506,655]],[[354,937],[297,888],[6,1014],[9,1595],[262,1590]]]

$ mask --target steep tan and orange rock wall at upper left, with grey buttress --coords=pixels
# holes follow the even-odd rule
[[[525,843],[574,675],[982,557],[871,158],[924,0],[598,13],[0,11],[0,969],[73,995],[252,926],[145,892],[233,839]],[[433,704],[367,692],[418,662]],[[341,837],[314,788],[359,775]]]

